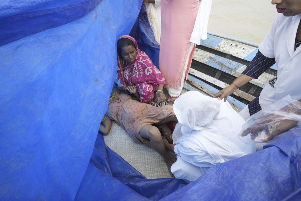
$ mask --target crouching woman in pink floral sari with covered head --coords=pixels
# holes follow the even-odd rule
[[[164,102],[164,75],[150,57],[138,48],[136,40],[129,35],[119,37],[117,52],[118,78],[115,82],[118,88],[134,94],[142,103],[150,103],[156,91],[157,102]]]

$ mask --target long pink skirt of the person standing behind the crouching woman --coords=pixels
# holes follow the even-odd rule
[[[168,88],[181,88],[187,76],[193,50],[189,42],[198,14],[198,0],[161,1],[160,71]],[[187,62],[188,61],[188,62]],[[185,72],[184,72],[185,71]],[[181,93],[181,91],[180,91]]]

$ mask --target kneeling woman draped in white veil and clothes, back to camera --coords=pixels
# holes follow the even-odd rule
[[[228,102],[189,91],[175,101],[173,110],[179,121],[175,144],[164,143],[177,155],[171,167],[176,178],[194,181],[211,166],[255,152],[254,144],[237,138],[245,121]]]

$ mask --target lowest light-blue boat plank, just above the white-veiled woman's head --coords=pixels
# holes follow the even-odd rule
[[[191,75],[188,75],[188,80],[190,83],[193,84],[193,86],[197,87],[198,89],[204,91],[205,93],[207,93],[211,96],[214,96],[214,94],[219,92],[218,89],[215,89],[214,87],[210,86],[209,84],[206,84],[203,81],[201,81]],[[186,83],[186,85],[188,85],[188,83]],[[184,86],[184,88],[186,88],[186,87]],[[187,90],[190,90],[190,89],[188,88]],[[231,96],[228,96],[227,101],[238,112],[246,106],[246,104],[240,102],[239,100],[236,100],[235,98],[233,98]]]

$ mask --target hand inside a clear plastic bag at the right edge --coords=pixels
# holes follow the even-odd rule
[[[244,130],[241,133],[241,136],[246,136],[250,133],[251,139],[254,140],[259,135],[263,142],[268,142],[277,135],[280,135],[298,124],[298,121],[288,119],[275,120],[276,118],[276,115],[268,115],[261,118],[259,123],[256,123]],[[261,136],[261,133],[264,134],[264,136]]]

